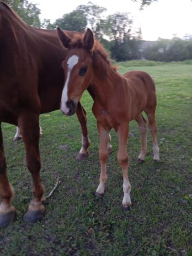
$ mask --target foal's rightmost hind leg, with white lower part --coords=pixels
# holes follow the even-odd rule
[[[151,132],[152,138],[153,138],[153,160],[159,161],[159,147],[157,144],[157,124],[155,120],[155,114],[152,109],[145,110],[147,117],[148,117],[148,129]]]

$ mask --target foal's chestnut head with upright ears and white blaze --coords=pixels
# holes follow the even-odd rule
[[[73,115],[83,91],[90,84],[94,36],[90,29],[87,29],[85,34],[77,35],[73,39],[62,32],[60,28],[57,28],[57,33],[62,44],[68,48],[66,59],[62,63],[65,85],[62,91],[60,109],[65,115]]]

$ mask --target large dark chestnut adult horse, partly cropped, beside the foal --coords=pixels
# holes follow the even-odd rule
[[[73,37],[77,32],[66,32]],[[41,201],[44,187],[40,180],[39,115],[60,109],[63,89],[61,62],[67,49],[61,49],[56,30],[26,25],[6,4],[0,2],[0,226],[15,218],[14,192],[6,173],[1,122],[19,127],[26,151],[26,162],[33,177],[33,199],[24,221],[35,222],[44,214]],[[81,103],[77,117],[82,129],[78,157],[88,156],[86,111]]]

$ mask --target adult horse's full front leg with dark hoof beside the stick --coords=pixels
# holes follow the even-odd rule
[[[23,112],[18,119],[19,128],[26,151],[26,163],[33,178],[33,199],[28,211],[24,214],[24,221],[36,222],[44,216],[45,207],[42,205],[44,187],[40,179],[39,155],[39,115],[32,112]]]

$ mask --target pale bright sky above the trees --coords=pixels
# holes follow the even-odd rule
[[[72,12],[80,4],[89,0],[29,0],[38,4],[41,18],[61,18],[63,14]],[[140,11],[140,4],[131,0],[91,0],[92,3],[107,9],[106,14],[129,12],[134,18],[134,27],[141,27],[144,40],[157,40],[159,37],[172,39],[183,38],[192,34],[192,0],[158,0]],[[67,4],[66,4],[67,3]]]

